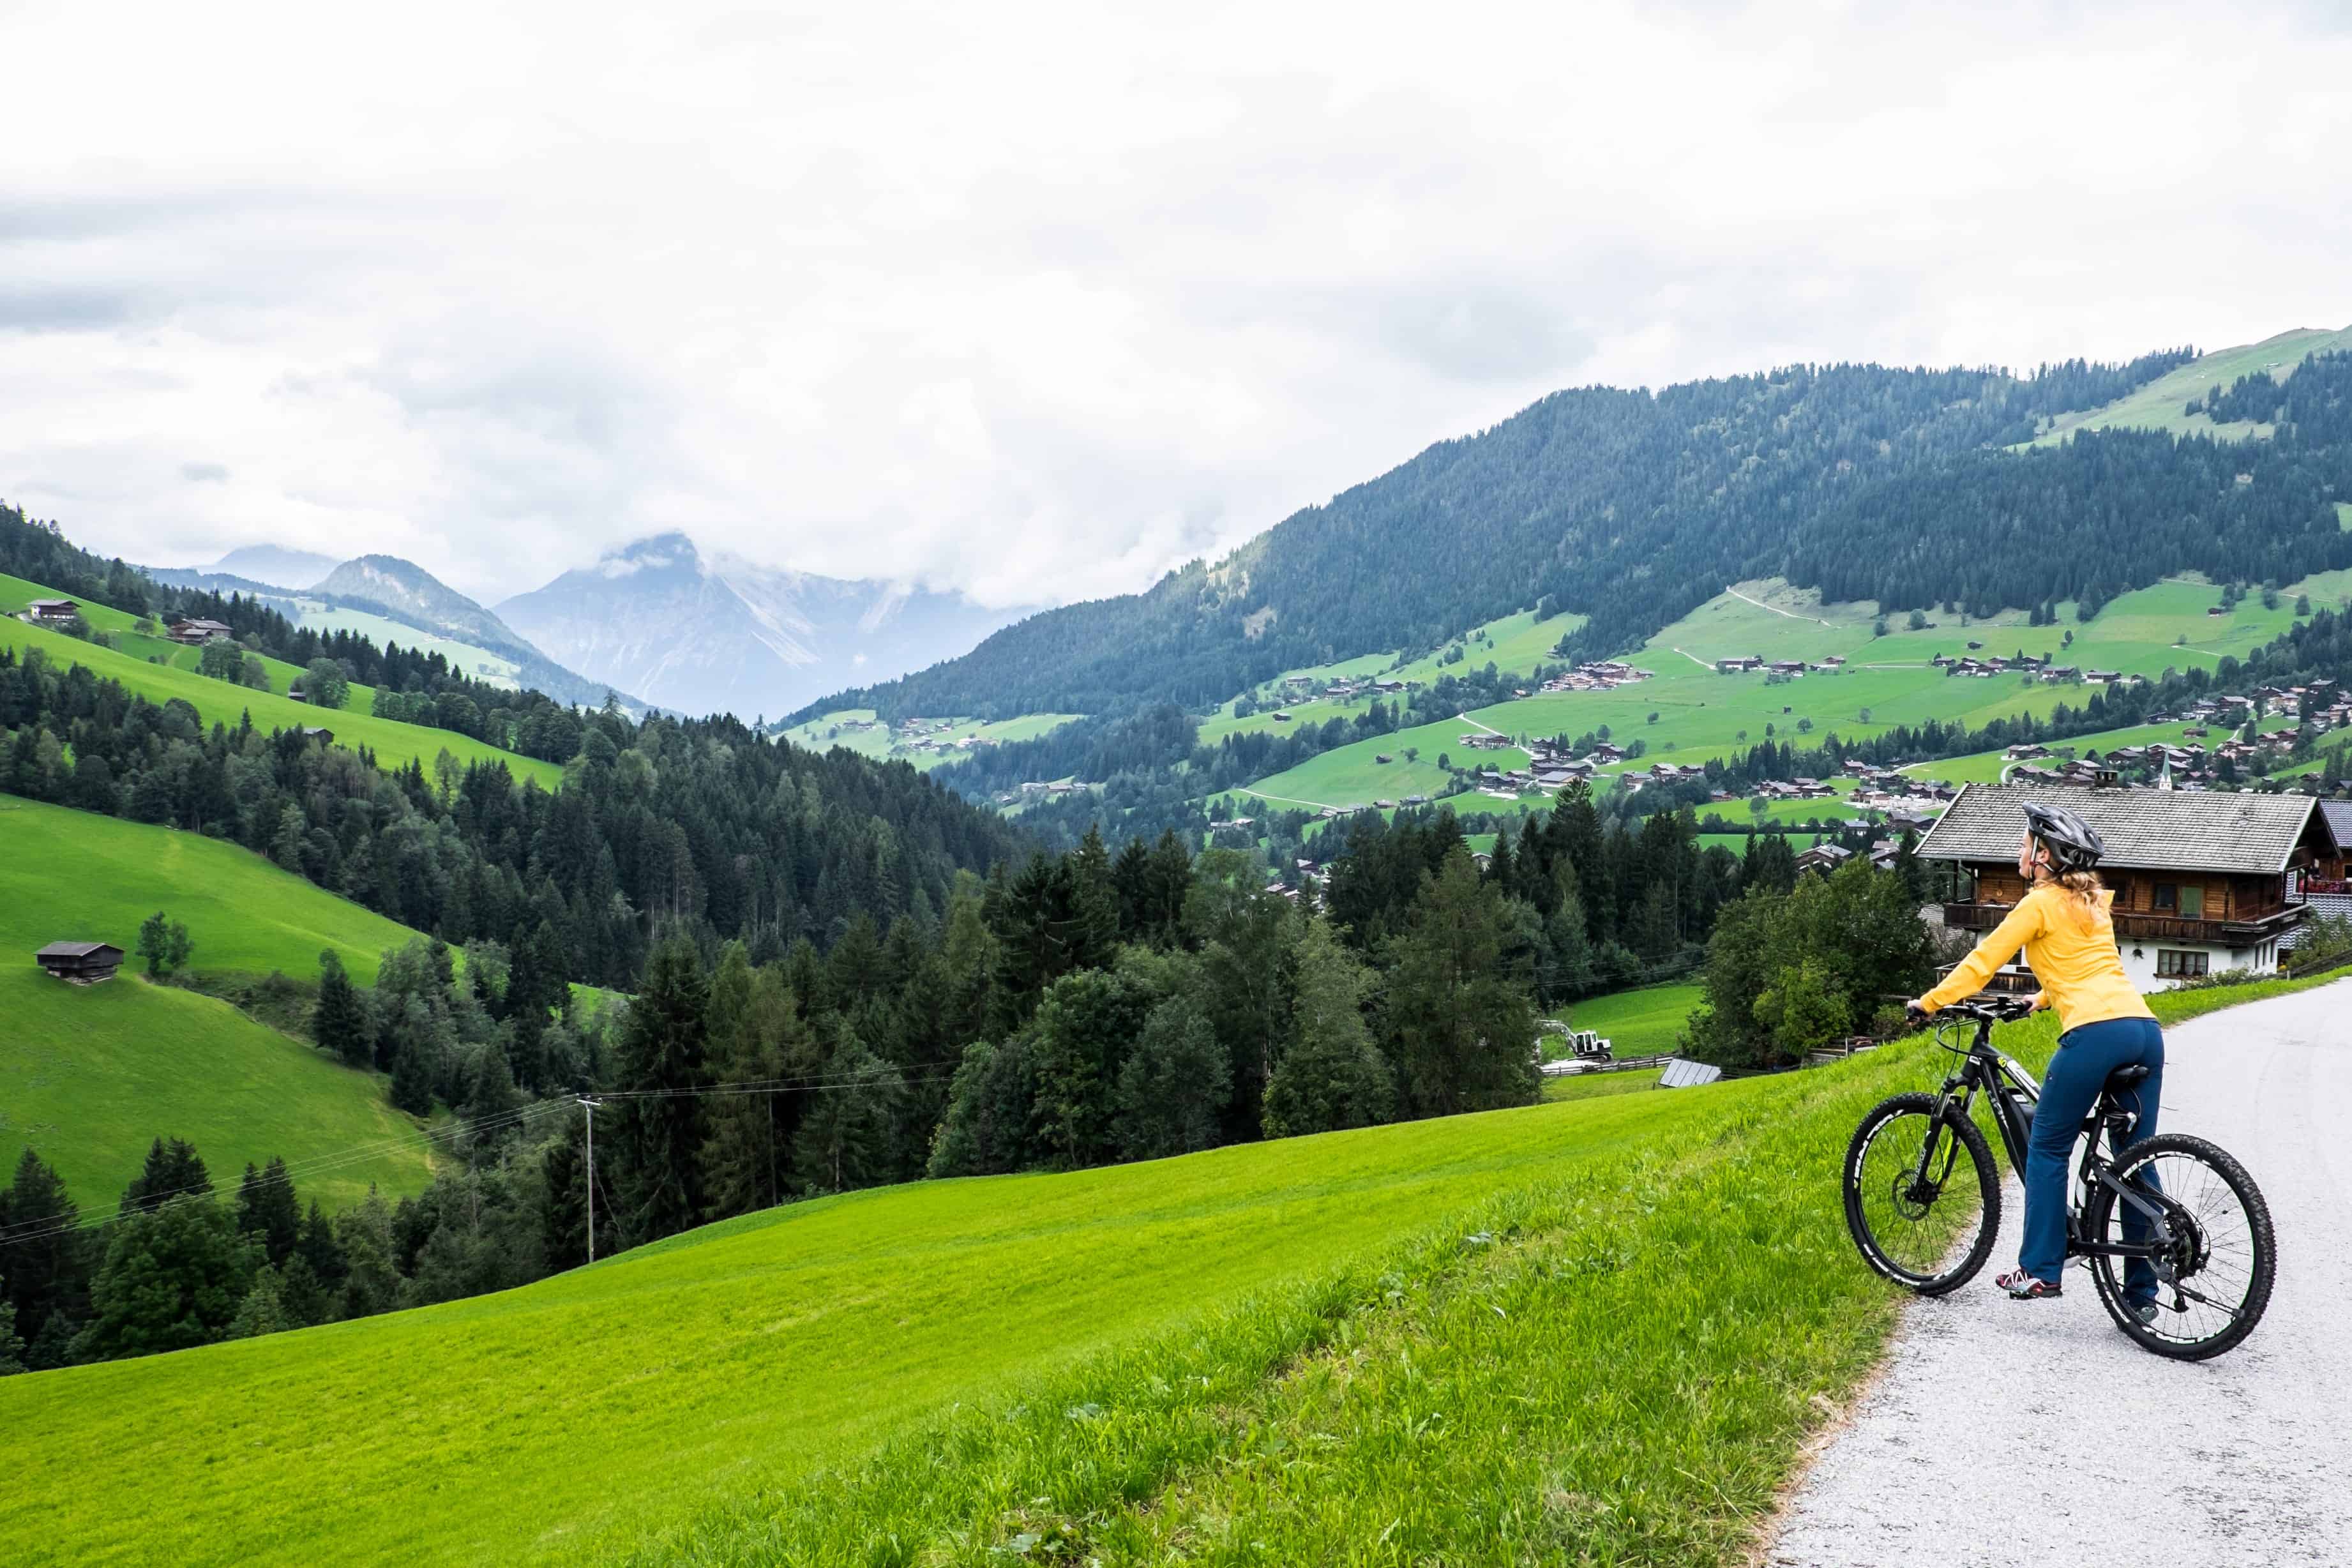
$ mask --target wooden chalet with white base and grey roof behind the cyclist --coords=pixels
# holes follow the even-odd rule
[[[2027,802],[2082,813],[2105,842],[2098,875],[2114,889],[2124,973],[2143,992],[2277,966],[2310,917],[2305,879],[2333,846],[2307,795],[1969,785],[1919,842],[1922,860],[1950,860],[1964,877],[1964,898],[1943,905],[1947,929],[1990,931],[2025,896],[2018,837]],[[2034,983],[2011,957],[1994,990]]]

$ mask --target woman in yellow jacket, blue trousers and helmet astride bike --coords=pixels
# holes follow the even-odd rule
[[[2025,1241],[2018,1267],[1994,1279],[2016,1300],[2051,1300],[2060,1293],[2065,1267],[2065,1168],[2084,1117],[2100,1086],[2117,1067],[2143,1065],[2147,1077],[2136,1086],[2138,1121],[2126,1143],[2154,1138],[2157,1100],[2164,1093],[2164,1032],[2140,992],[2124,976],[2114,947],[2114,922],[2098,872],[2105,846],[2089,823],[2065,806],[2025,806],[2025,839],[2018,844],[2018,875],[2032,886],[1992,936],[1976,945],[1952,976],[1912,1001],[1915,1013],[1936,1013],[1985,987],[1992,971],[2018,947],[2042,990],[2034,1006],[2058,1009],[2058,1056],[2042,1081],[2042,1105],[2034,1112],[2034,1135],[2025,1159]],[[2133,1225],[2138,1220],[2138,1225]],[[2126,1213],[2124,1234],[2145,1229],[2145,1220]],[[2133,1258],[2124,1295],[2145,1321],[2154,1316],[2157,1276],[2145,1258]]]

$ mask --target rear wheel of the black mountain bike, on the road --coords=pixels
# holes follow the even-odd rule
[[[2176,1361],[2206,1361],[2237,1349],[2270,1307],[2270,1284],[2279,1272],[2279,1241],[2270,1227],[2270,1204],[2234,1157],[2185,1133],[2159,1133],[2124,1150],[2114,1180],[2143,1192],[2161,1192],[2159,1206],[2173,1229],[2157,1279],[2157,1312],[2143,1324],[2133,1312],[2131,1269],[2124,1258],[2091,1258],[2091,1284],[2107,1316],[2140,1349]],[[2126,1241],[2129,1204],[2096,1187],[2084,1204],[2084,1234],[2096,1244]],[[2171,1279],[2161,1279],[2171,1272]]]

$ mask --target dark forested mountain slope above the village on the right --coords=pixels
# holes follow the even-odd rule
[[[2009,451],[2190,357],[2070,362],[2032,378],[1795,367],[1661,393],[1557,393],[1214,567],[1033,616],[960,661],[826,708],[1197,708],[1287,668],[1435,646],[1531,604],[1590,616],[1569,654],[1621,654],[1726,583],[1769,576],[1889,597],[1889,609],[1999,607],[2183,569],[2293,581],[2352,559],[2321,505],[2352,494],[2343,355],[2286,381],[2293,407],[2265,447],[2114,430]]]

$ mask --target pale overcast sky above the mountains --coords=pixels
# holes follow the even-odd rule
[[[2347,9],[0,0],[0,498],[1124,592],[1559,386],[2352,324]]]

